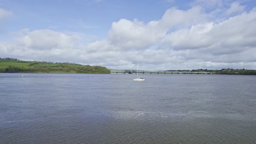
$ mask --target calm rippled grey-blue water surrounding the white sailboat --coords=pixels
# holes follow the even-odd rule
[[[256,76],[135,76],[0,74],[0,143],[256,143]]]

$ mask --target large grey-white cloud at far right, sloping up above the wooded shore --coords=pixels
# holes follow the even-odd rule
[[[166,35],[162,43],[164,49],[178,51],[184,63],[207,62],[212,67],[230,64],[233,68],[251,64],[255,68],[255,18],[255,11],[251,11],[220,23],[191,26]]]

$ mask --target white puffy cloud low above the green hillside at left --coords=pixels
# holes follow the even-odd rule
[[[22,31],[24,35],[19,38],[3,43],[0,48],[2,55],[12,57],[39,59],[41,61],[56,61],[58,58],[70,59],[75,55],[75,48],[79,47],[79,35],[67,35],[49,29]],[[20,35],[20,31],[18,32]],[[49,60],[47,59],[49,58]]]

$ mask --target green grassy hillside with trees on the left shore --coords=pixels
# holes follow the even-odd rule
[[[109,74],[110,70],[101,66],[74,63],[52,63],[19,61],[14,58],[0,58],[0,73],[91,73]]]

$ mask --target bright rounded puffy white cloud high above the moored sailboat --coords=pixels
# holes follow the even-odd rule
[[[156,23],[144,25],[137,20],[121,19],[112,23],[107,40],[118,49],[145,49],[165,34],[165,31],[158,31]]]

